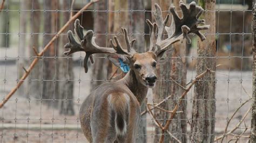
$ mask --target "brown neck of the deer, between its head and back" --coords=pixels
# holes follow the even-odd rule
[[[147,96],[147,90],[149,88],[141,84],[132,69],[120,80],[123,82],[133,93],[134,96],[138,99],[140,105],[144,102],[145,97]]]

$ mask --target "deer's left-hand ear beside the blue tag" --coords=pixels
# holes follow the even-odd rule
[[[122,62],[127,65],[129,65],[129,63],[130,63],[129,58],[127,58],[127,56],[125,56],[125,55],[111,54],[111,55],[107,56],[107,59],[109,59],[117,67],[121,67]]]

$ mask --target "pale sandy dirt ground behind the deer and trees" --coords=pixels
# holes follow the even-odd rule
[[[0,99],[8,94],[8,92],[16,85],[17,80],[17,66],[14,64],[0,64]],[[237,109],[241,103],[250,98],[242,87],[252,94],[252,71],[228,71],[218,70],[217,73],[217,88],[216,88],[216,115],[215,115],[215,130],[218,134],[224,131],[228,117]],[[58,110],[48,108],[46,105],[41,104],[38,99],[33,96],[21,96],[18,92],[10,101],[8,101],[4,108],[0,109],[0,142],[86,142],[83,133],[79,129],[78,109],[81,101],[90,92],[91,73],[84,73],[83,68],[78,66],[74,69],[75,74],[75,116],[59,115]],[[225,74],[225,75],[224,75]],[[189,70],[187,72],[187,83],[196,76],[195,71]],[[80,79],[80,83],[78,82]],[[192,89],[193,91],[193,89]],[[191,119],[193,92],[189,92],[186,96],[187,99],[187,118]],[[152,102],[152,94],[149,91],[149,103]],[[28,100],[30,99],[30,100]],[[250,108],[251,103],[247,103],[241,110],[234,116],[230,123],[228,130],[231,130],[238,121],[242,118],[244,113]],[[154,128],[152,126],[152,119],[147,116],[147,142],[152,142],[154,138]],[[15,129],[13,127],[3,128],[5,125],[62,125],[63,129],[59,130],[28,130],[28,129]],[[250,127],[250,114],[245,119],[246,126]],[[76,128],[68,130],[65,125],[73,125]],[[244,123],[241,125],[244,127]],[[190,128],[188,127],[188,130]],[[250,130],[250,129],[249,129]],[[242,132],[240,128],[238,131]],[[240,140],[245,142],[245,140]]]

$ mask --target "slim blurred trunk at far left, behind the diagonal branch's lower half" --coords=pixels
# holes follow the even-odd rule
[[[29,2],[30,8],[33,10],[39,10],[40,5],[38,0],[30,0]],[[28,63],[26,63],[27,66],[30,65],[31,61],[36,58],[36,54],[33,51],[32,47],[35,47],[37,51],[39,51],[39,33],[40,32],[40,25],[41,25],[41,11],[31,11],[31,18],[30,18],[30,46],[25,47],[28,48],[29,56],[32,56],[32,58]],[[41,97],[41,68],[42,67],[42,60],[40,60],[37,65],[31,70],[30,76],[29,76],[29,95],[32,95],[33,97],[40,98]]]

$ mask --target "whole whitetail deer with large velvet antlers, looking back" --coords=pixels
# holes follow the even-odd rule
[[[129,39],[127,30],[122,28],[126,41],[126,48],[120,45],[117,37],[114,37],[116,44],[110,40],[112,48],[100,47],[95,43],[93,31],[89,30],[83,34],[83,27],[77,19],[75,22],[75,33],[80,44],[73,38],[73,33],[68,32],[69,43],[65,45],[69,51],[65,55],[83,51],[86,53],[84,58],[84,69],[87,73],[87,61],[93,62],[92,54],[107,53],[107,58],[120,67],[119,60],[130,66],[130,71],[124,78],[116,82],[104,83],[99,85],[85,99],[80,107],[80,123],[85,137],[90,142],[135,142],[136,132],[140,118],[140,105],[143,103],[147,90],[153,88],[157,76],[154,72],[157,61],[163,53],[172,47],[174,42],[188,38],[189,33],[194,33],[201,40],[205,37],[200,30],[208,29],[209,25],[204,24],[203,19],[198,19],[203,9],[192,2],[187,9],[183,2],[180,2],[180,8],[183,12],[183,18],[180,18],[174,6],[170,7],[170,13],[173,15],[171,26],[166,26],[169,15],[163,20],[159,5],[155,4],[156,11],[153,16],[156,23],[146,20],[150,26],[150,48],[145,53],[137,53],[133,48],[135,39]],[[158,30],[158,34],[157,34]],[[164,38],[164,32],[167,32],[167,38]]]

